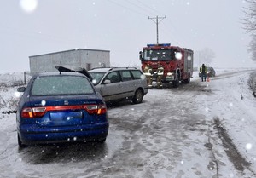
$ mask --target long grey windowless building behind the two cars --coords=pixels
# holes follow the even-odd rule
[[[30,72],[56,72],[55,66],[79,66],[87,70],[110,66],[110,51],[97,49],[73,49],[45,55],[29,56]]]

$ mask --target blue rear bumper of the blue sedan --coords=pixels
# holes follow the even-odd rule
[[[22,125],[18,128],[18,134],[20,141],[26,145],[94,141],[106,139],[108,127],[109,123],[61,128],[42,128],[34,125]]]

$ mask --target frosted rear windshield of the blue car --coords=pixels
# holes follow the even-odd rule
[[[94,93],[87,78],[79,76],[44,76],[35,78],[32,95],[84,95]]]

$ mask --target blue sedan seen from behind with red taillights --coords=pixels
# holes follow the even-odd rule
[[[78,72],[45,72],[32,77],[20,98],[20,147],[72,141],[106,141],[108,113],[90,79]]]

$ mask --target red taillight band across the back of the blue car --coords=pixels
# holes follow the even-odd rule
[[[84,109],[89,114],[104,114],[107,112],[105,105],[78,105],[78,106],[45,106],[26,107],[21,112],[21,118],[41,118],[49,111],[67,111]]]

